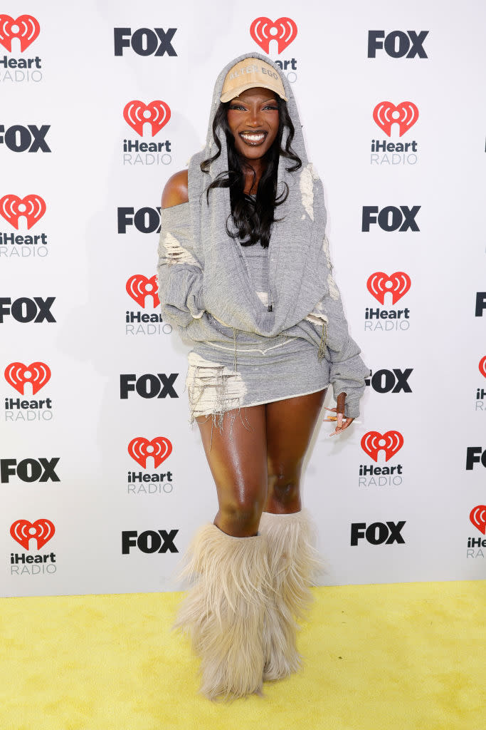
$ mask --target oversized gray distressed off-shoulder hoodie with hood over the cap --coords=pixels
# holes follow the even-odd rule
[[[221,130],[221,155],[209,173],[200,169],[200,163],[216,152],[212,123],[224,77],[234,64],[249,57],[261,58],[280,73],[267,56],[246,53],[230,61],[216,80],[206,145],[189,161],[189,204],[166,208],[161,214],[157,274],[162,315],[195,350],[204,342],[235,346],[240,342],[244,347],[255,338],[306,339],[315,345],[316,357],[325,358],[323,366],[329,367],[334,398],[346,393],[345,415],[356,418],[369,368],[348,333],[340,292],[332,277],[322,183],[308,161],[294,94],[283,74],[295,129],[292,147],[302,168],[288,172],[289,160],[281,155],[278,186],[285,182],[289,196],[278,208],[278,218],[283,220],[273,224],[270,238],[271,312],[262,307],[254,291],[240,242],[227,234],[229,190],[213,189],[209,204],[206,202],[208,184],[227,169],[226,139]],[[286,134],[287,130],[282,145]]]

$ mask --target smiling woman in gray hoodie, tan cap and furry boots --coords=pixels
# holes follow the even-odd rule
[[[203,694],[259,693],[299,668],[318,565],[299,480],[326,388],[340,434],[369,375],[332,278],[322,183],[270,58],[219,74],[205,149],[165,185],[161,218],[162,315],[192,347],[189,406],[219,502],[189,550],[176,625]]]

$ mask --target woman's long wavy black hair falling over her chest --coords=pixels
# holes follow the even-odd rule
[[[270,242],[270,234],[272,232],[272,224],[278,218],[274,218],[275,208],[286,201],[289,196],[289,185],[283,183],[284,190],[277,196],[277,173],[278,159],[280,155],[289,158],[294,164],[287,167],[288,172],[294,172],[302,167],[302,160],[291,147],[294,139],[294,125],[287,109],[287,104],[280,96],[277,97],[278,104],[278,132],[273,145],[265,155],[267,166],[259,180],[256,189],[256,199],[245,193],[245,174],[241,164],[240,155],[236,151],[235,137],[233,137],[230,126],[227,122],[227,109],[231,101],[221,102],[213,119],[213,139],[218,148],[216,154],[201,162],[201,170],[209,172],[211,162],[219,158],[221,155],[222,145],[219,142],[216,132],[219,128],[226,135],[228,150],[228,169],[220,172],[216,180],[208,185],[206,190],[206,200],[209,202],[209,192],[213,188],[230,188],[231,212],[226,221],[226,230],[232,238],[239,238],[242,246],[254,245],[260,241],[264,248],[267,248]],[[285,147],[281,146],[283,130],[289,129]],[[254,170],[254,180],[256,180],[256,171]],[[230,229],[229,223],[232,218],[234,224],[233,230]],[[236,231],[234,230],[236,228]]]

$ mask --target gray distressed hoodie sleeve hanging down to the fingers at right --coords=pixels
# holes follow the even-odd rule
[[[332,277],[329,243],[326,237],[323,251],[328,268],[327,292],[306,319],[321,329],[323,339],[326,341],[329,382],[332,383],[334,399],[337,399],[340,393],[346,393],[345,416],[357,418],[359,401],[366,387],[364,379],[369,377],[370,370],[361,359],[361,350],[348,331],[340,291]]]

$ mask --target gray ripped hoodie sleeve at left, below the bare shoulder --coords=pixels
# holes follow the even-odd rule
[[[203,266],[192,247],[189,203],[162,209],[157,278],[162,316],[187,327],[203,316]]]

